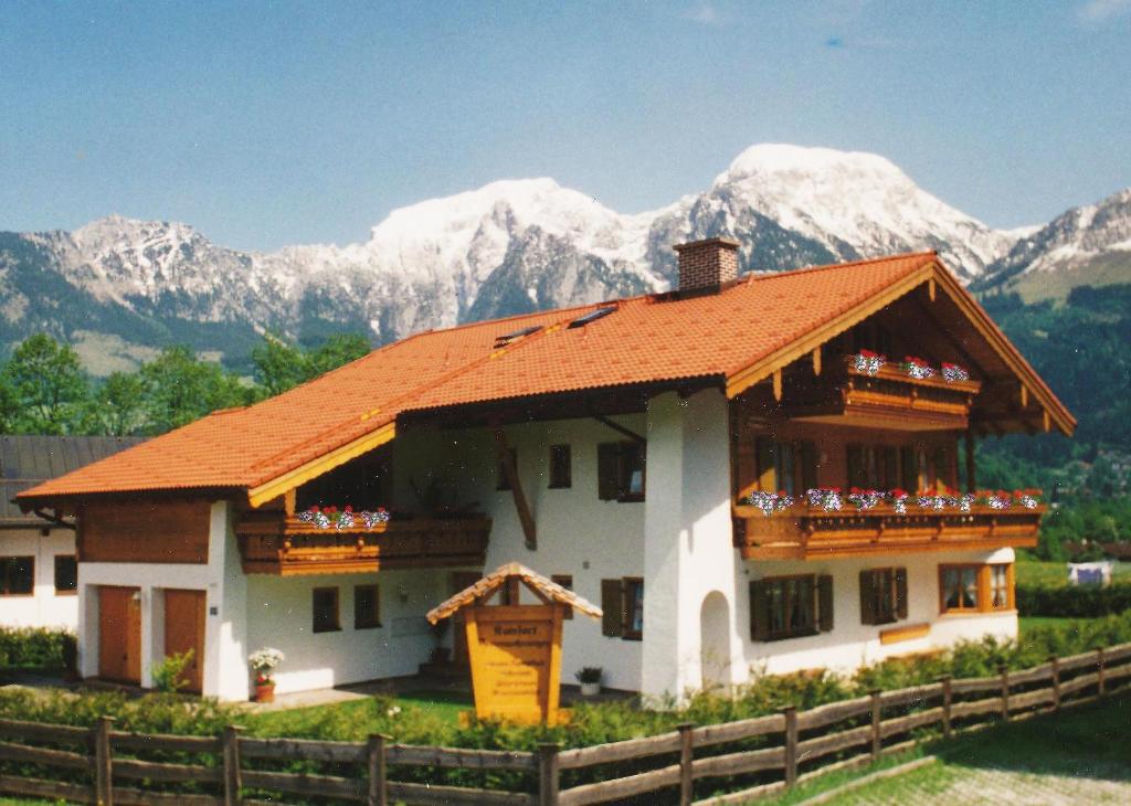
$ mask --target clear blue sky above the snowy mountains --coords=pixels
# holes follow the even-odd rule
[[[242,249],[553,176],[625,213],[746,146],[882,154],[994,226],[1131,184],[1131,0],[63,3],[0,25],[0,229]]]

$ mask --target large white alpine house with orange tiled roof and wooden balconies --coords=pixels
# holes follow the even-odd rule
[[[411,336],[18,496],[78,523],[84,675],[279,692],[459,668],[425,614],[518,562],[604,617],[563,671],[646,694],[1016,635],[1035,492],[983,436],[1076,422],[933,252],[737,276]]]

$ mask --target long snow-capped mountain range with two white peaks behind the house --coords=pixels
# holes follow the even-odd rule
[[[636,215],[534,179],[395,210],[345,246],[240,252],[185,224],[118,216],[70,233],[0,233],[0,340],[42,329],[95,339],[84,356],[180,341],[240,364],[267,328],[312,339],[362,330],[382,343],[665,289],[672,245],[711,235],[741,241],[743,271],[936,249],[964,281],[1019,237],[947,206],[882,157],[761,145],[702,193]]]

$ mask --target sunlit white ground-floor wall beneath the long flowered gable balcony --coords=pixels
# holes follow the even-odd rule
[[[739,617],[743,634],[744,665],[756,673],[785,674],[798,669],[828,668],[847,671],[884,658],[949,647],[962,639],[983,635],[1017,636],[1017,613],[940,615],[939,565],[1009,563],[1013,549],[996,552],[924,552],[889,557],[852,557],[810,562],[746,563],[740,584]],[[861,624],[860,572],[864,569],[907,569],[907,618],[892,624]],[[750,640],[749,581],[789,574],[831,574],[834,627],[830,632],[782,641]],[[883,645],[880,632],[910,624],[930,624],[926,636]]]

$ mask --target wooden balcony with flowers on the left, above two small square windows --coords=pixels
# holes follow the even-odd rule
[[[491,520],[420,518],[339,531],[282,512],[249,512],[235,531],[244,573],[294,577],[482,566]]]

